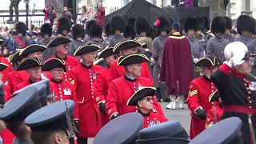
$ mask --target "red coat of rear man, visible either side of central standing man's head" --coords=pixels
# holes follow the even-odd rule
[[[125,70],[123,66],[118,66],[118,60],[115,60],[110,66],[110,80],[114,80],[116,78],[122,77],[125,74]],[[146,62],[142,62],[142,74],[141,77],[150,78],[153,81],[152,76],[150,74],[149,66]]]

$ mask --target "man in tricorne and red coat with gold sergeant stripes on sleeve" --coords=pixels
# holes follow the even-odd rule
[[[190,139],[205,130],[206,114],[212,108],[209,98],[216,92],[214,83],[210,81],[210,75],[213,74],[218,66],[222,64],[215,56],[208,56],[199,59],[195,66],[202,67],[202,77],[195,78],[190,82],[187,103],[190,109]]]

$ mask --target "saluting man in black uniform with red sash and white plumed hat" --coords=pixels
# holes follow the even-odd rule
[[[222,119],[242,119],[242,138],[249,144],[255,140],[256,128],[256,78],[250,75],[251,57],[255,54],[250,54],[242,42],[231,42],[226,46],[224,54],[226,62],[211,75],[222,99]]]

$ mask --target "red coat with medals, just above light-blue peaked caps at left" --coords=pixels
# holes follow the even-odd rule
[[[55,82],[51,79],[50,91],[51,94],[54,92],[56,102],[66,99],[71,99],[74,101],[74,120],[78,120],[78,104],[74,86],[67,81]]]

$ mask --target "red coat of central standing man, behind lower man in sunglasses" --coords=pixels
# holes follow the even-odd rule
[[[125,76],[110,82],[110,88],[106,99],[106,111],[111,118],[114,114],[126,114],[135,112],[136,106],[127,106],[128,99],[142,87],[152,86],[153,83],[149,78],[139,77],[135,81],[128,80]],[[161,106],[154,98],[154,109],[163,115]]]

